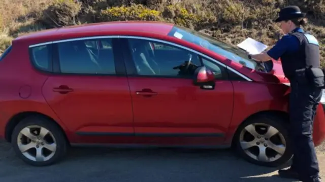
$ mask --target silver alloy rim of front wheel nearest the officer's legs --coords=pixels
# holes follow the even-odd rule
[[[286,150],[286,141],[281,132],[265,123],[247,125],[239,136],[241,149],[250,158],[261,162],[273,162]]]

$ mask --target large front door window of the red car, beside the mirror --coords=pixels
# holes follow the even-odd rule
[[[202,65],[198,54],[169,44],[140,39],[128,44],[138,75],[187,78]]]

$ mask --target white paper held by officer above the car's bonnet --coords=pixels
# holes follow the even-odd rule
[[[267,45],[255,41],[251,38],[247,38],[245,41],[237,44],[238,47],[240,47],[241,49],[245,50],[246,52],[248,52],[249,54],[259,54],[261,52],[263,52],[266,48],[268,48]]]

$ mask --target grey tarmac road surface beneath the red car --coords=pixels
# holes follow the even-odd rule
[[[317,151],[321,170],[324,151],[324,145]],[[0,141],[1,182],[295,181],[279,178],[276,170],[243,161],[230,150],[107,148],[74,148],[56,165],[32,167],[15,156],[10,144]]]

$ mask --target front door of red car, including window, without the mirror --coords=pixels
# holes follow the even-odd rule
[[[125,48],[136,136],[156,136],[143,139],[169,144],[223,141],[231,122],[234,99],[225,67],[158,40],[125,38],[121,42]],[[177,69],[188,60],[197,66],[206,64],[214,71],[217,79],[214,90],[194,86],[193,71]],[[177,137],[166,140],[166,136]]]

